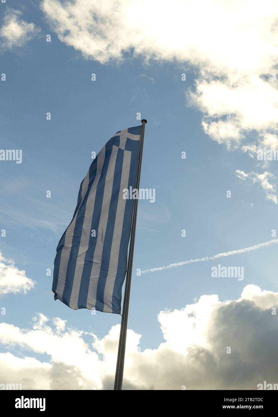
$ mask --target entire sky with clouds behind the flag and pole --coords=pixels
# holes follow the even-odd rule
[[[142,118],[155,202],[124,389],[278,382],[278,161],[257,157],[278,149],[277,17],[270,0],[0,3],[0,149],[22,150],[0,158],[0,383],[113,388],[121,317],[54,301],[53,261],[91,153]]]

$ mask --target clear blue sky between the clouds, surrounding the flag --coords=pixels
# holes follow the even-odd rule
[[[3,19],[8,7],[1,4]],[[138,126],[137,112],[148,121],[140,186],[156,190],[155,203],[139,201],[137,219],[129,328],[142,334],[141,349],[155,349],[163,342],[157,322],[161,310],[182,309],[204,294],[218,294],[221,301],[238,299],[248,284],[278,291],[276,244],[136,276],[137,268],[267,242],[275,239],[271,231],[278,230],[277,204],[265,198],[260,183],[235,175],[240,170],[277,176],[278,162],[270,161],[265,168],[256,156],[233,146],[229,150],[225,140],[219,143],[205,133],[202,121],[207,114],[188,96],[196,91],[202,69],[175,58],[146,61],[132,48],[120,61],[101,63],[62,42],[37,4],[15,1],[12,7],[40,32],[1,53],[0,72],[6,81],[0,82],[0,148],[22,149],[23,161],[0,162],[0,229],[6,230],[0,251],[36,284],[25,295],[1,296],[0,306],[7,310],[2,321],[25,329],[41,312],[98,337],[120,322],[116,314],[97,311],[94,316],[54,301],[53,261],[91,152],[98,152],[117,131]],[[92,73],[96,81],[91,81]],[[182,73],[186,81],[181,80]],[[229,123],[225,110],[219,119]],[[259,135],[259,129],[248,128],[244,141],[253,143]],[[181,158],[182,151],[186,159]],[[272,183],[275,188],[276,180]],[[51,198],[46,198],[47,190]],[[226,198],[227,190],[231,198]],[[182,229],[186,237],[181,236]],[[218,263],[244,266],[244,280],[212,278],[211,268]],[[46,276],[47,268],[51,276]],[[1,352],[5,351],[3,346]],[[10,352],[18,352],[18,347]]]

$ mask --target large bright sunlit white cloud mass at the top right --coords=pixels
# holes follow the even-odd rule
[[[150,0],[43,0],[42,9],[59,39],[86,58],[106,63],[132,51],[194,66],[188,98],[203,112],[205,132],[228,148],[246,146],[253,130],[255,146],[260,135],[277,138],[276,0],[162,0],[159,7]]]

